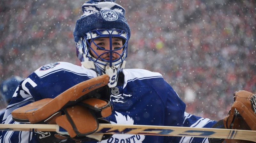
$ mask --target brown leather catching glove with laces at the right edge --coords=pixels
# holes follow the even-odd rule
[[[256,131],[256,95],[244,90],[235,92],[234,103],[228,116],[214,124],[212,128]],[[209,138],[208,140],[210,143],[254,143],[237,139]]]

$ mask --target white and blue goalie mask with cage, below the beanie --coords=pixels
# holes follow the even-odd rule
[[[94,40],[100,37],[109,38],[109,49],[100,47],[95,43]],[[120,29],[91,30],[76,42],[77,57],[85,68],[94,70],[98,76],[107,74],[109,76],[108,86],[115,87],[118,75],[124,69],[128,37],[126,31]],[[113,47],[113,38],[121,39],[122,45]],[[104,52],[99,55],[97,50],[92,48],[92,44],[97,47],[97,50],[103,50]],[[117,57],[112,57],[113,54]],[[108,55],[108,58],[104,59],[105,55]]]

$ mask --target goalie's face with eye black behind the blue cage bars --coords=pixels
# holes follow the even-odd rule
[[[99,37],[91,40],[90,44],[92,56],[103,62],[120,59],[123,53],[123,41],[121,38]]]

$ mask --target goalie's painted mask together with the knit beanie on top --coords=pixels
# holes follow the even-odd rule
[[[115,0],[90,0],[82,10],[84,14],[76,21],[73,33],[76,55],[85,68],[94,70],[98,76],[107,74],[108,86],[115,87],[124,69],[131,35],[125,10]],[[96,42],[100,38],[108,41],[108,45]]]

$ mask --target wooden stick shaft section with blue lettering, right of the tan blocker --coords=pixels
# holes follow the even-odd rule
[[[109,130],[108,130],[109,129]],[[101,132],[102,131],[102,132]],[[256,141],[256,131],[175,126],[104,124],[96,133],[126,133],[158,136],[187,136]]]

